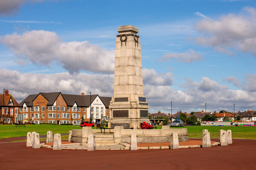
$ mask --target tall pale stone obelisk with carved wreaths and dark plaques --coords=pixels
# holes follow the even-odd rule
[[[143,95],[139,30],[120,26],[116,36],[114,96],[110,102],[108,127],[140,128],[149,123],[148,103]]]

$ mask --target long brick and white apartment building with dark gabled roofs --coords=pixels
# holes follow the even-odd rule
[[[93,122],[108,119],[111,97],[99,95],[72,95],[61,92],[31,94],[20,102],[24,123],[80,124],[81,117]]]

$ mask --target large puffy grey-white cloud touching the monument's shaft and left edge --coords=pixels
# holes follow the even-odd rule
[[[51,66],[59,62],[70,73],[92,71],[113,73],[114,51],[107,51],[87,41],[63,42],[55,32],[44,30],[26,31],[0,37],[19,60]]]

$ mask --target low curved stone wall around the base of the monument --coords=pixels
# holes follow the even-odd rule
[[[100,133],[100,129],[93,129],[93,133]],[[108,129],[105,132],[113,133],[114,129]],[[173,132],[178,133],[179,142],[189,140],[188,130],[186,128],[176,129],[122,129],[120,141],[122,143],[131,142],[131,133],[136,133],[138,143],[162,143],[170,142]],[[82,142],[82,130],[72,130],[71,142]]]

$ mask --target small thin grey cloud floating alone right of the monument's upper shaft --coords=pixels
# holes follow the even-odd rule
[[[166,53],[159,59],[159,61],[166,61],[167,59],[176,59],[180,62],[195,62],[195,61],[201,61],[204,59],[202,54],[196,53],[194,50],[189,49],[189,51],[186,51],[185,53]]]

